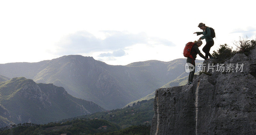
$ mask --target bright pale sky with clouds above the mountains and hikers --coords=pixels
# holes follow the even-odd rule
[[[0,63],[71,54],[111,65],[185,58],[185,44],[200,37],[193,34],[201,31],[200,22],[215,29],[212,52],[239,36],[255,39],[255,5],[255,0],[1,1]]]

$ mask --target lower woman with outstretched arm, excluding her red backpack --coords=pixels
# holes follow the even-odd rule
[[[198,49],[198,47],[200,47],[202,44],[203,42],[201,40],[194,41],[194,45],[190,51],[190,54],[192,55],[193,59],[190,57],[187,58],[187,63],[190,63],[194,66],[193,71],[189,72],[189,75],[188,75],[188,85],[190,85],[193,82],[195,68],[196,68],[196,63],[195,63],[196,55],[199,54],[199,56],[202,57],[204,60],[207,59]]]

